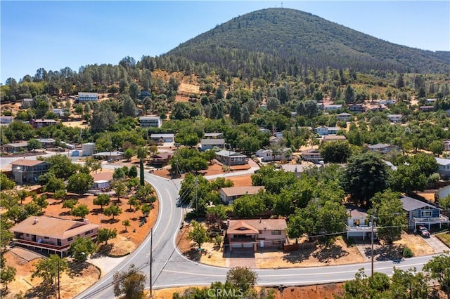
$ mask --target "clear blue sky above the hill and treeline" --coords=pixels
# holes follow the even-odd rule
[[[198,34],[281,1],[0,1],[0,82],[161,55]],[[394,44],[450,51],[450,1],[283,1]]]

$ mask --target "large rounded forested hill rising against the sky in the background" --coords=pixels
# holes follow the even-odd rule
[[[399,46],[289,8],[268,8],[233,18],[165,55],[252,77],[267,72],[264,67],[290,74],[304,67],[450,72],[449,52]]]

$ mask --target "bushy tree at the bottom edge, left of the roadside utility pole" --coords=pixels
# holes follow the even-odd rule
[[[144,298],[144,287],[147,277],[139,272],[134,265],[130,265],[127,271],[116,272],[113,276],[114,295],[129,299]]]

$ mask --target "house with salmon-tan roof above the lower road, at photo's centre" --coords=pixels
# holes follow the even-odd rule
[[[286,239],[285,219],[227,220],[226,237],[230,252],[236,248],[282,246]]]

